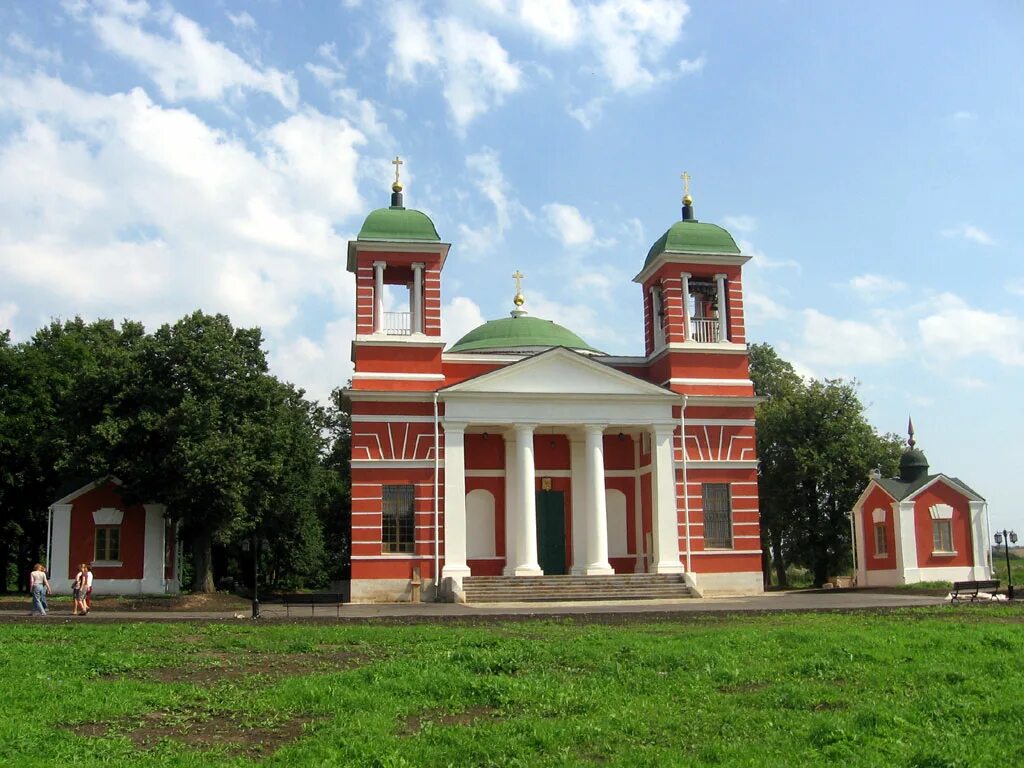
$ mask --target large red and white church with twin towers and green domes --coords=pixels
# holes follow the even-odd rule
[[[636,257],[642,354],[531,315],[518,271],[509,314],[445,348],[451,244],[394,163],[348,244],[352,600],[761,592],[750,256],[687,193]]]

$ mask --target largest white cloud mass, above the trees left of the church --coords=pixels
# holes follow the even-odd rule
[[[347,122],[306,108],[246,145],[139,89],[42,75],[0,76],[0,120],[13,126],[0,138],[0,285],[18,322],[60,307],[153,328],[201,307],[261,326],[281,349],[309,302],[350,321],[333,222],[365,209],[365,139]],[[347,359],[328,355],[324,381],[344,381]]]

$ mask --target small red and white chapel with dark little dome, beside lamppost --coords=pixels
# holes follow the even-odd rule
[[[991,579],[988,505],[959,478],[930,474],[908,431],[899,477],[874,473],[853,507],[857,586]]]

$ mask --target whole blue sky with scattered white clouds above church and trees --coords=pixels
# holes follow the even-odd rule
[[[518,268],[531,313],[639,354],[687,170],[754,256],[749,338],[912,414],[1021,527],[1022,39],[1015,2],[4,3],[0,327],[222,311],[323,398],[400,155],[449,340]]]

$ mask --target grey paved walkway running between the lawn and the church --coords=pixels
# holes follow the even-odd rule
[[[873,591],[833,592],[772,592],[757,597],[688,598],[683,600],[627,600],[617,602],[571,603],[490,603],[458,605],[453,603],[387,603],[374,605],[293,606],[290,621],[361,622],[373,620],[402,622],[463,622],[501,618],[578,616],[594,621],[629,621],[670,618],[694,613],[728,613],[743,611],[805,611],[805,610],[892,610],[919,605],[941,605],[943,597],[920,594],[893,594]],[[28,603],[27,603],[28,607]],[[289,621],[283,605],[263,606],[267,622]],[[43,618],[31,616],[28,610],[0,611],[0,622],[224,622],[249,618],[250,611],[128,611],[93,610],[88,616],[72,616],[71,612],[51,611]]]

